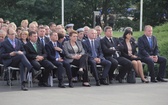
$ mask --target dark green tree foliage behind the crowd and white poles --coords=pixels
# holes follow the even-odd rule
[[[51,21],[61,24],[61,0],[0,0],[0,2],[0,17],[14,21],[18,26],[23,19],[28,19],[30,22],[37,21],[39,24],[48,24]],[[108,24],[109,14],[127,18],[127,9],[134,4],[139,7],[140,0],[64,0],[64,2],[65,24],[74,23],[75,28],[78,28],[85,25],[92,26],[93,11],[101,11],[105,25]],[[144,0],[144,24],[162,23],[164,13],[168,13],[167,0]],[[134,21],[139,21],[139,15],[136,15]]]

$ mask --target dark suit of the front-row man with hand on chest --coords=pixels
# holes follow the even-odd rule
[[[61,48],[60,43],[57,42],[57,47]],[[62,74],[63,74],[63,67],[65,67],[68,79],[72,79],[72,73],[71,73],[71,67],[69,62],[67,61],[56,61],[56,50],[54,49],[53,43],[50,41],[48,44],[45,45],[46,51],[47,51],[47,58],[49,61],[51,61],[55,66],[57,66],[57,74],[58,74],[58,79],[62,80]],[[58,52],[58,51],[57,51]],[[63,57],[63,52],[58,52],[60,56]]]

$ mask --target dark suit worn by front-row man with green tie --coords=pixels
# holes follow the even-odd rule
[[[42,78],[40,79],[40,82],[46,83],[50,71],[54,69],[54,65],[46,59],[47,54],[44,46],[38,42],[36,43],[36,45],[37,45],[37,52],[31,42],[25,44],[26,56],[33,65],[34,69],[40,70],[41,66],[45,68],[45,70],[42,73],[43,75]],[[44,59],[42,61],[36,61],[36,56],[43,56]]]

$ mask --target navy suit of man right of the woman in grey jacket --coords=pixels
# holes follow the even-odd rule
[[[108,72],[109,72],[110,67],[111,67],[111,62],[106,60],[103,57],[100,41],[94,40],[94,47],[95,47],[95,52],[97,54],[97,57],[93,57],[93,54],[92,54],[93,49],[91,47],[89,39],[85,40],[83,42],[83,45],[84,45],[84,49],[85,49],[86,53],[89,55],[88,62],[91,65],[91,70],[94,73],[95,80],[99,81],[97,68],[96,68],[96,61],[94,60],[94,58],[100,58],[101,59],[101,62],[99,64],[104,67],[103,74],[102,74],[102,79],[105,79],[108,76]]]

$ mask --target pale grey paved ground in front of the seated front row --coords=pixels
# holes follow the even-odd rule
[[[0,105],[168,105],[168,83],[136,84],[114,82],[109,86],[74,88],[38,87],[21,91],[18,83],[10,89],[0,82]]]

